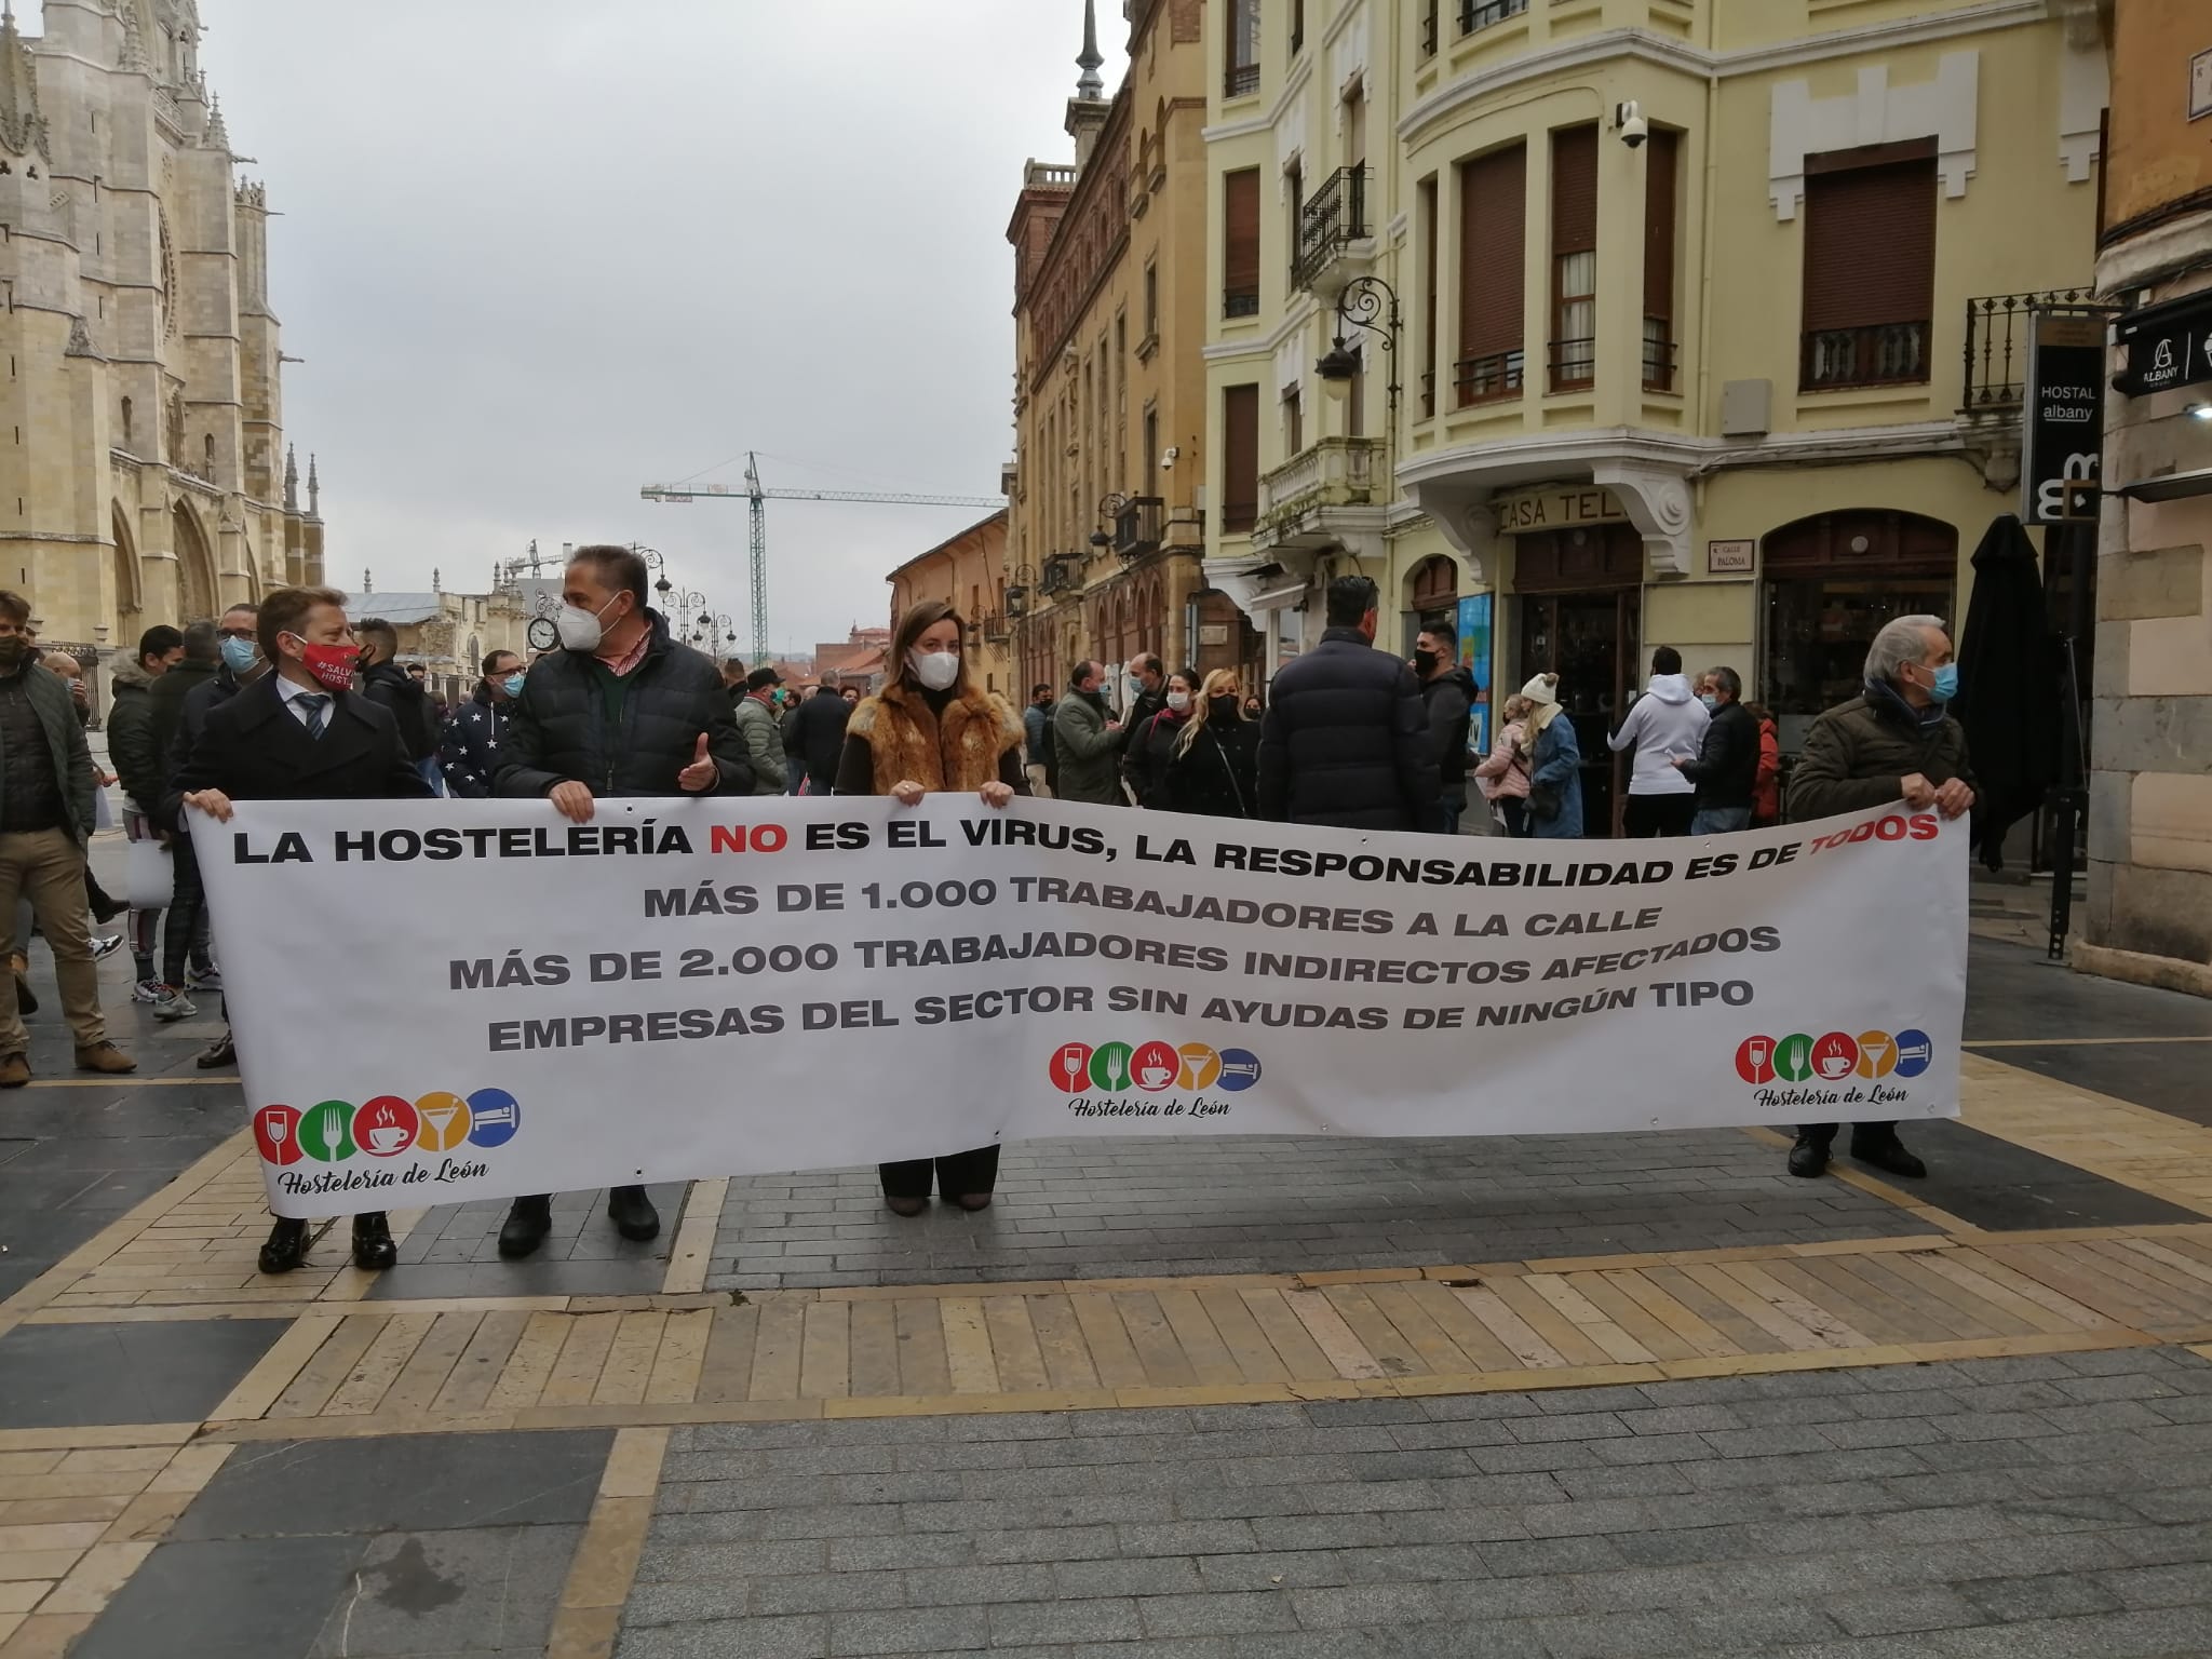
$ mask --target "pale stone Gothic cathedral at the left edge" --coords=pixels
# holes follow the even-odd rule
[[[268,215],[199,69],[195,0],[0,22],[0,582],[86,659],[323,580],[283,434]]]

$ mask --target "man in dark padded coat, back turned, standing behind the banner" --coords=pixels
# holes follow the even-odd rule
[[[1321,644],[1287,664],[1259,728],[1259,816],[1340,830],[1442,830],[1429,708],[1413,670],[1374,648],[1376,584],[1329,584]]]

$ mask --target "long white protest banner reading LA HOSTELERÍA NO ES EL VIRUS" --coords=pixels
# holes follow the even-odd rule
[[[1966,827],[1360,836],[973,796],[195,816],[279,1214],[1042,1135],[1947,1117]]]

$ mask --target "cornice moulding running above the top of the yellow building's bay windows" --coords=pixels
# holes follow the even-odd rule
[[[1991,29],[2011,29],[2051,18],[2048,0],[1982,0],[1962,11],[1944,11],[1931,18],[1905,18],[1896,22],[1869,22],[1858,29],[1836,29],[1805,35],[1774,46],[1750,46],[1745,51],[1705,51],[1681,40],[1668,40],[1644,29],[1606,29],[1595,35],[1577,35],[1562,46],[1544,46],[1522,58],[1511,58],[1489,69],[1478,69],[1458,80],[1444,82],[1427,97],[1418,100],[1398,119],[1398,137],[1413,142],[1416,135],[1467,104],[1482,102],[1495,93],[1513,91],[1533,80],[1562,71],[1588,69],[1593,64],[1621,58],[1674,69],[1686,75],[1730,80],[1734,75],[1763,75],[1776,69],[1820,64],[1834,58],[1858,58],[1898,46],[1918,46],[1936,40],[1958,40],[1980,35]]]

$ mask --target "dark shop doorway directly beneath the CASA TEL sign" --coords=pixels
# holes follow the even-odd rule
[[[1644,633],[1644,538],[1628,524],[1515,538],[1520,677],[1559,677],[1559,701],[1582,748],[1582,825],[1617,836],[1626,765],[1606,748],[1635,697]]]

